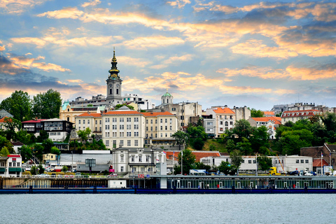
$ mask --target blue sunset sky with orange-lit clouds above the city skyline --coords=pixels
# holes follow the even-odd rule
[[[0,0],[0,101],[50,88],[270,110],[336,106],[336,1]]]

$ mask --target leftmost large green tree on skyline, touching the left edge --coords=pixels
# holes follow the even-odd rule
[[[20,122],[30,120],[32,113],[28,92],[15,90],[10,97],[3,99],[0,109],[8,111],[8,113],[13,115],[13,118],[20,120]]]

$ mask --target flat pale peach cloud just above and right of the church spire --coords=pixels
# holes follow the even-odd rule
[[[179,37],[166,37],[166,36],[144,36],[134,38],[131,41],[125,41],[123,45],[127,48],[164,48],[169,45],[183,44],[183,39]]]

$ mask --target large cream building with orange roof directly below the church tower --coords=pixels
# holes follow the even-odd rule
[[[146,118],[127,106],[102,114],[102,139],[106,148],[144,147]]]

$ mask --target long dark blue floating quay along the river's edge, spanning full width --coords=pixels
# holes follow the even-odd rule
[[[336,176],[151,176],[1,179],[0,194],[273,194],[336,193]],[[14,182],[13,182],[14,181]],[[113,183],[125,183],[116,186]],[[9,185],[6,183],[10,183]],[[20,183],[11,185],[13,183]]]

